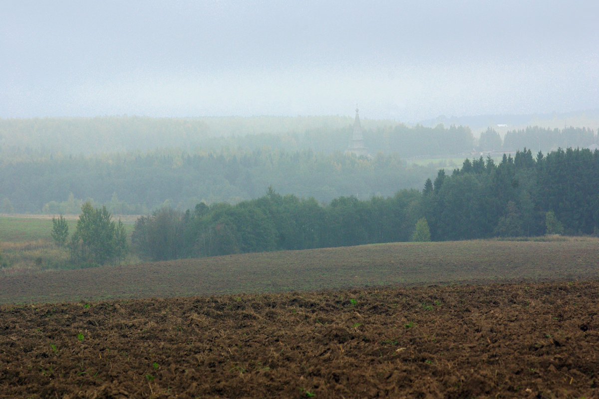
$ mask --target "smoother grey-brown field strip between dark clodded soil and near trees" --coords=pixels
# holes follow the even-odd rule
[[[0,303],[599,278],[599,239],[387,243],[0,277]]]

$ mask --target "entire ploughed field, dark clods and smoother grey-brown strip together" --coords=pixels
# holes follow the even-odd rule
[[[5,276],[0,398],[595,398],[597,264],[592,241],[467,242]]]

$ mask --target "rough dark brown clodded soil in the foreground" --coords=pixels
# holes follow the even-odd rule
[[[579,398],[599,282],[0,306],[0,397]]]

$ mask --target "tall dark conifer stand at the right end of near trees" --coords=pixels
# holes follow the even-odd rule
[[[517,151],[499,165],[465,160],[451,176],[439,172],[422,193],[423,215],[435,240],[538,236],[547,214],[568,235],[597,234],[599,151]],[[555,232],[555,231],[551,231]]]

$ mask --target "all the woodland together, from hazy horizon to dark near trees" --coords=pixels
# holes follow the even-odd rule
[[[370,156],[356,157],[344,153],[350,122],[0,120],[0,213],[61,215],[53,219],[56,243],[88,265],[119,263],[127,253],[168,260],[599,233],[592,129],[527,127],[502,138],[489,128],[474,138],[464,126],[366,120]],[[68,237],[62,215],[81,211]],[[111,220],[124,214],[138,215],[130,245]]]

